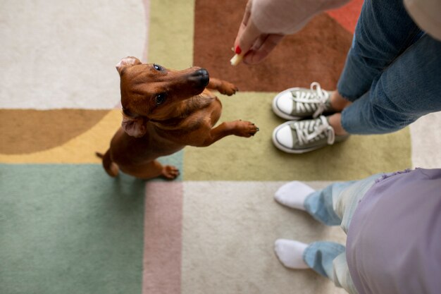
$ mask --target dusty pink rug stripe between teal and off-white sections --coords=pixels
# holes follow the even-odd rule
[[[181,293],[182,182],[146,186],[143,294]]]

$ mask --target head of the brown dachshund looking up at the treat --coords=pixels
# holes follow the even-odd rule
[[[172,118],[178,104],[204,91],[209,73],[192,67],[173,71],[155,63],[142,63],[126,57],[117,65],[120,74],[123,129],[128,135],[142,137],[148,120]]]

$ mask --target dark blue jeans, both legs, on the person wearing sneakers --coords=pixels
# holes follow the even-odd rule
[[[402,0],[365,0],[338,92],[351,134],[392,133],[441,111],[441,42],[426,35]]]

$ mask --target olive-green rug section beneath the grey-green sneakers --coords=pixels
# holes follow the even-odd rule
[[[184,180],[356,180],[411,167],[409,128],[387,135],[352,135],[305,154],[288,154],[271,141],[285,121],[271,109],[273,93],[219,95],[219,122],[242,119],[260,128],[254,137],[228,136],[209,147],[186,147]]]

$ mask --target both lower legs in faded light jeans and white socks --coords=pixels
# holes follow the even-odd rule
[[[340,225],[347,232],[357,204],[378,178],[380,174],[375,174],[363,180],[334,183],[318,191],[294,181],[282,185],[275,192],[275,200],[294,209],[306,210],[314,219],[328,226]],[[278,239],[274,250],[285,267],[311,268],[330,278],[335,286],[342,287],[349,293],[356,293],[343,245],[333,242],[308,245],[297,240]]]

